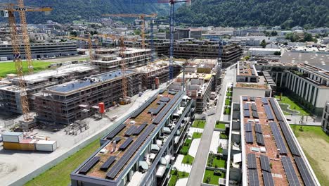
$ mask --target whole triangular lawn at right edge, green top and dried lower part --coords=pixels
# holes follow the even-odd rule
[[[329,185],[329,136],[319,126],[290,125],[321,185]]]

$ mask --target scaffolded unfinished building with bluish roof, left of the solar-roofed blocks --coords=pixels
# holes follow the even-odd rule
[[[139,73],[127,70],[127,96],[138,94],[141,89]],[[44,89],[35,94],[37,119],[41,123],[69,124],[98,112],[98,104],[114,106],[122,92],[122,70],[85,77]]]

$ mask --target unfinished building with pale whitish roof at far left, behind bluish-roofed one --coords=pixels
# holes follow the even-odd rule
[[[24,82],[30,110],[33,111],[35,109],[35,97],[33,94],[41,91],[41,89],[95,75],[97,72],[96,68],[89,65],[72,65],[63,66],[56,70],[46,70],[32,75],[25,75]],[[7,75],[7,78],[1,82],[4,84],[0,85],[1,110],[22,113],[18,77],[16,75]]]

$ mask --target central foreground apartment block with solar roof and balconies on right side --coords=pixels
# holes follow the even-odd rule
[[[194,118],[193,99],[162,90],[113,125],[101,147],[70,175],[71,185],[165,185]]]

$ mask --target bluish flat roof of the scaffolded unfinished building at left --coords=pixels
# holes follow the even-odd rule
[[[129,75],[131,73],[135,73],[135,72],[132,70],[126,70],[126,75]],[[77,80],[77,81],[67,82],[67,83],[64,83],[61,85],[49,87],[48,90],[53,91],[53,92],[62,92],[62,93],[71,92],[76,89],[81,89],[83,87],[95,85],[99,82],[113,80],[117,77],[122,77],[122,70],[117,70],[117,71],[109,72],[109,73],[103,73],[101,75],[94,75],[94,76],[91,76],[88,80]]]

